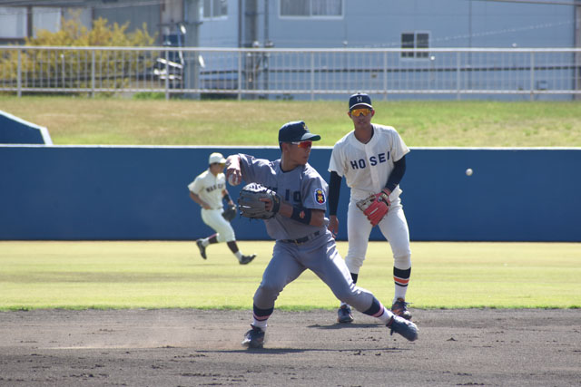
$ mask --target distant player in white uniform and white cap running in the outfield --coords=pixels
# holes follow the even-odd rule
[[[242,255],[236,244],[234,229],[230,222],[222,217],[222,199],[226,199],[229,204],[233,205],[228,190],[226,190],[226,177],[223,174],[225,162],[222,153],[212,153],[208,160],[210,164],[208,169],[204,170],[188,185],[190,198],[202,207],[203,222],[216,231],[216,234],[210,237],[196,240],[196,245],[200,249],[202,258],[206,259],[206,247],[214,243],[226,242],[240,264],[246,265],[256,255]]]

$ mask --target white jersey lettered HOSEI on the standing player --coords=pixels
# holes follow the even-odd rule
[[[329,170],[345,177],[351,189],[351,198],[359,200],[385,188],[394,161],[409,153],[409,148],[390,126],[372,124],[373,137],[367,144],[355,138],[350,131],[337,141],[330,156]],[[389,195],[392,202],[399,198],[401,189]]]

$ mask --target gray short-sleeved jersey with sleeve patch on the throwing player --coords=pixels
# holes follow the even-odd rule
[[[242,179],[245,181],[261,183],[278,193],[292,206],[323,211],[327,209],[327,183],[309,164],[283,172],[281,160],[255,159],[245,154],[241,154],[240,158]],[[327,229],[326,226],[305,225],[294,219],[282,217],[280,214],[265,220],[264,223],[269,236],[277,240],[299,239],[316,231],[324,234]]]

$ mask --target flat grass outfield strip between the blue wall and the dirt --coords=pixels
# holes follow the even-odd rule
[[[241,266],[224,244],[202,260],[192,242],[0,242],[0,310],[34,308],[250,309],[273,242],[241,242],[258,257]],[[339,243],[341,255],[347,250]],[[417,308],[581,307],[575,243],[412,243],[408,301]],[[392,258],[372,242],[359,285],[388,304]],[[277,307],[333,309],[338,301],[309,271]]]

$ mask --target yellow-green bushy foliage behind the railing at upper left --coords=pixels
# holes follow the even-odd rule
[[[56,47],[144,47],[151,46],[155,36],[143,24],[127,32],[129,22],[108,24],[106,19],[93,21],[93,27],[81,24],[78,15],[62,19],[57,32],[40,30],[25,40],[20,50],[21,85],[28,88],[86,89],[93,85],[114,91],[138,78],[138,71],[151,68],[156,53],[130,50],[70,50]],[[34,49],[38,46],[54,49]],[[8,50],[0,56],[0,76],[5,84],[16,86],[18,51]]]

